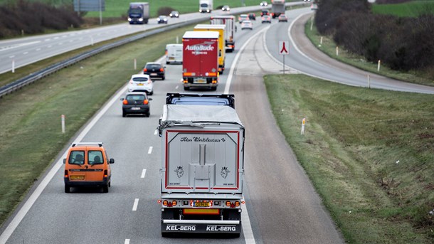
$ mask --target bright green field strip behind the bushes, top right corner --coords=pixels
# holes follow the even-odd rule
[[[421,14],[434,14],[434,1],[409,1],[403,4],[372,4],[374,14],[387,14],[400,17],[417,17]]]

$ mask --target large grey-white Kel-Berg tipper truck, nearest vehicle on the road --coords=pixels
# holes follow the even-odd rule
[[[239,237],[245,132],[235,109],[166,104],[158,130],[162,137],[162,235],[230,233]]]

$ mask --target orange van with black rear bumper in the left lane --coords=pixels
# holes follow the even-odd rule
[[[114,163],[115,159],[108,159],[102,142],[74,142],[63,159],[65,193],[74,186],[101,186],[102,191],[108,192],[112,177],[110,164]]]

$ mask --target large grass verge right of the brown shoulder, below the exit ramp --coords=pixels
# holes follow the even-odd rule
[[[277,124],[346,242],[433,243],[433,95],[305,75],[267,75],[265,85]]]

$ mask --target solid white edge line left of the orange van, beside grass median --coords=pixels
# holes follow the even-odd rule
[[[90,131],[90,129],[96,124],[98,120],[102,117],[102,115],[107,112],[107,110],[110,108],[110,106],[113,105],[113,103],[117,102],[119,100],[120,95],[122,95],[127,90],[127,85],[122,87],[120,92],[115,95],[110,102],[107,102],[105,107],[100,110],[100,112],[97,113],[97,115],[89,122],[89,124],[83,129],[83,131],[78,135],[78,137],[75,137],[73,142],[81,142],[81,140],[85,137],[86,134]],[[23,204],[22,208],[16,213],[16,216],[14,219],[9,223],[9,226],[6,227],[3,233],[0,235],[0,244],[6,243],[6,241],[9,239],[9,237],[14,233],[14,230],[18,226],[18,224],[23,220],[24,216],[26,216],[26,213],[30,210],[31,206],[33,206],[33,203],[36,202],[38,197],[41,195],[42,191],[46,188],[48,183],[50,183],[51,179],[55,176],[57,171],[60,169],[60,167],[63,165],[63,159],[66,157],[66,154],[68,151],[65,151],[62,157],[55,163],[53,168],[48,172],[46,177],[41,181],[41,184],[38,185],[38,187],[33,191],[31,196],[27,199],[26,203]]]

